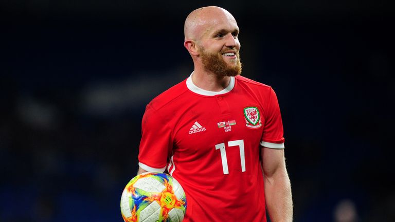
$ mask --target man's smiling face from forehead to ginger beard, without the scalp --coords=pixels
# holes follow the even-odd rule
[[[230,13],[208,16],[202,31],[199,57],[204,68],[218,77],[237,76],[241,73],[239,27]]]

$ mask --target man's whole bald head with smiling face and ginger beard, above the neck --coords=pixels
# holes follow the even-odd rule
[[[196,61],[219,77],[241,73],[238,34],[235,18],[219,7],[197,9],[185,22],[185,39],[196,45]]]

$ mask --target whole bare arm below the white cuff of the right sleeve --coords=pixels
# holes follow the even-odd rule
[[[283,149],[261,146],[266,206],[273,222],[291,222],[293,214],[291,182],[285,168]]]

